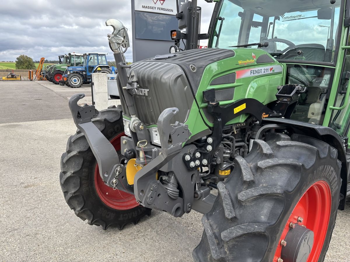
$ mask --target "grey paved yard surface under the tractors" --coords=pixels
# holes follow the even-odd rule
[[[65,92],[0,81],[2,109],[10,114],[0,117],[0,261],[192,261],[203,230],[195,211],[182,218],[152,211],[137,225],[104,231],[70,210],[58,181],[61,154],[76,130]],[[325,261],[350,261],[349,218],[347,205],[338,211]]]

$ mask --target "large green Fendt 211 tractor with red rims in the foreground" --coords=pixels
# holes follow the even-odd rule
[[[185,5],[178,37],[209,48],[128,66],[106,21],[121,107],[71,97],[66,202],[103,229],[203,213],[195,261],[323,261],[349,188],[350,1],[219,0],[203,35]]]

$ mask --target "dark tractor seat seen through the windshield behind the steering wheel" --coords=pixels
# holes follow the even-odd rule
[[[290,58],[295,56],[295,51],[302,51],[303,57],[308,61],[324,61],[325,47],[321,44],[301,44],[296,45],[296,48],[285,53],[283,58]]]

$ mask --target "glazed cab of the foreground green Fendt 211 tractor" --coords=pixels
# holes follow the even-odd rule
[[[209,46],[251,50],[240,65],[252,69],[276,59],[283,67],[281,84],[307,87],[290,118],[346,135],[350,61],[348,22],[340,15],[344,5],[329,0],[221,0],[211,21]],[[257,50],[269,56],[257,57]]]

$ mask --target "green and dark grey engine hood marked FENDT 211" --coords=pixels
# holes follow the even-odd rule
[[[235,88],[240,89],[238,94],[242,91],[246,94],[255,78],[279,74],[281,80],[282,65],[260,49],[208,48],[142,60],[132,64],[129,73],[138,81],[138,89],[133,90],[137,115],[145,125],[151,126],[156,125],[161,112],[170,107],[179,108],[173,121],[185,123],[191,108],[203,103],[202,94],[206,89],[217,90],[217,101],[233,102]],[[245,85],[235,87],[237,82]],[[274,88],[275,94],[276,86]],[[266,93],[266,87],[264,90]],[[129,116],[127,110],[124,114]]]

